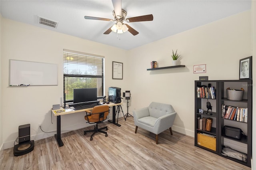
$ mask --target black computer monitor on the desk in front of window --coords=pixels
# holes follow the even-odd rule
[[[74,89],[74,103],[97,101],[97,88]]]

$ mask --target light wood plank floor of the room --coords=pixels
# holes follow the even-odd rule
[[[122,126],[105,122],[108,137],[98,133],[90,141],[83,128],[62,134],[64,146],[54,136],[35,141],[32,152],[14,156],[3,151],[0,170],[250,170],[231,160],[194,146],[194,138],[169,129],[155,135],[135,126],[132,117],[120,118]]]

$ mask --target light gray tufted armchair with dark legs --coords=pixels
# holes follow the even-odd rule
[[[144,128],[156,134],[156,144],[158,144],[158,134],[166,129],[170,129],[172,135],[172,125],[176,116],[172,105],[152,102],[148,107],[133,111],[135,133],[138,127]]]

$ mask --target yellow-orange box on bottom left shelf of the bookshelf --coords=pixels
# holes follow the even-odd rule
[[[216,151],[216,138],[198,133],[197,144]]]

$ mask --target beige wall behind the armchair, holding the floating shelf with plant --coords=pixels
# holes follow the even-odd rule
[[[152,101],[170,103],[177,112],[173,130],[194,136],[194,80],[239,79],[239,60],[252,55],[250,29],[247,11],[130,50],[130,111]],[[172,49],[182,54],[186,67],[146,70],[150,61],[171,66]],[[193,73],[198,64],[206,64],[206,73]]]

